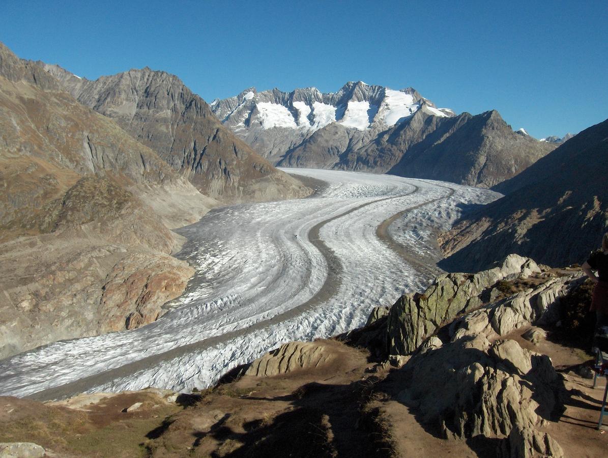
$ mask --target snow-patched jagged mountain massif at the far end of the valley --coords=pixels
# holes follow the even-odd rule
[[[420,109],[428,116],[455,116],[413,88],[396,91],[362,81],[348,82],[336,92],[247,88],[235,97],[214,100],[211,109],[244,141],[275,160],[333,123],[348,137],[362,139],[404,122]]]

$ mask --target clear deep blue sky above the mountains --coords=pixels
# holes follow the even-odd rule
[[[608,117],[606,0],[2,0],[0,41],[89,79],[164,70],[207,102],[363,80],[537,138]]]

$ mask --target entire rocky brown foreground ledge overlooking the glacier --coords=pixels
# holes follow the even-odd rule
[[[510,255],[202,392],[0,398],[0,442],[48,456],[599,456],[603,383],[560,340],[585,291],[579,269]]]

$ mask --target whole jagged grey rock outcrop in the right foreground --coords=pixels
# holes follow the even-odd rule
[[[585,276],[576,271],[561,276],[539,276],[538,272],[532,260],[510,255],[500,268],[475,276],[438,277],[427,290],[429,296],[441,298],[432,300],[432,307],[396,313],[395,307],[401,311],[399,302],[393,306],[387,338],[393,350],[409,349],[412,353],[398,373],[403,389],[397,398],[416,409],[421,422],[437,426],[447,439],[481,436],[496,440],[496,456],[564,456],[559,443],[548,432],[539,431],[539,426],[546,426],[554,412],[562,409],[564,382],[548,356],[523,349],[505,336],[530,327],[525,338],[533,342],[544,339],[545,331],[531,325],[554,324],[560,316],[560,298],[578,288]],[[535,282],[530,282],[530,274]],[[464,281],[458,283],[461,289],[447,281],[460,278],[454,275],[463,276]],[[466,310],[465,299],[491,297],[488,293],[494,290],[488,288],[499,279],[531,286]],[[484,289],[480,296],[474,295]],[[458,291],[463,291],[460,299],[456,299]],[[465,304],[463,314],[454,319],[447,313],[447,332],[420,342],[420,330],[428,331],[437,324],[437,319],[429,319],[433,308],[446,313],[454,300],[458,307]],[[425,316],[424,325],[416,328],[413,324]],[[393,339],[390,323],[397,320],[401,321],[401,333]]]

